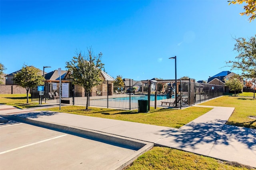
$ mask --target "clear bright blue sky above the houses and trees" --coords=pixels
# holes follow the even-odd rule
[[[234,37],[252,37],[256,21],[226,0],[1,0],[0,63],[66,70],[76,51],[103,53],[106,72],[147,80],[207,80],[230,70]],[[237,70],[234,72],[239,73]]]

